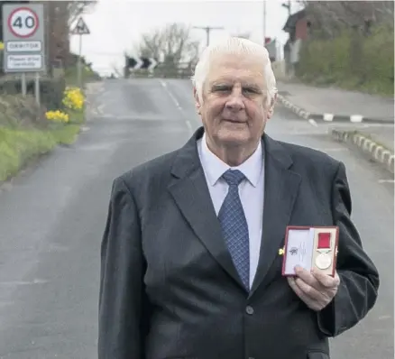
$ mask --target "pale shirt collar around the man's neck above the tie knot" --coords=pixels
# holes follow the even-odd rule
[[[225,171],[229,169],[240,170],[243,175],[251,182],[253,187],[258,185],[258,180],[263,167],[262,141],[259,142],[255,152],[253,152],[253,154],[246,161],[237,167],[229,166],[210,151],[210,149],[207,147],[206,133],[203,133],[201,145],[201,161],[203,168],[206,171],[207,180],[210,186],[214,186],[217,180],[220,179]]]

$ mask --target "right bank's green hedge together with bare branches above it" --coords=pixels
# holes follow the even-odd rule
[[[308,21],[296,68],[302,82],[393,96],[393,1],[299,3]]]

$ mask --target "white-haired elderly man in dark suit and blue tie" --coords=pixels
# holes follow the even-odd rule
[[[264,133],[276,87],[262,46],[209,46],[193,82],[203,126],[114,181],[98,357],[327,359],[379,287],[344,164]],[[289,225],[338,226],[335,276],[281,275]]]

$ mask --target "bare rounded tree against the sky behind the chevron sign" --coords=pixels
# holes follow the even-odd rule
[[[181,62],[193,64],[198,59],[199,42],[190,38],[188,26],[170,23],[142,34],[137,52],[142,57],[154,58],[165,66],[176,68]]]

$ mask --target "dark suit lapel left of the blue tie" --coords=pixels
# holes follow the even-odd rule
[[[242,287],[243,282],[226,248],[216,211],[207,187],[203,168],[198,158],[197,140],[203,135],[199,128],[179,151],[171,169],[173,179],[169,190],[180,212],[194,233],[226,272]]]

